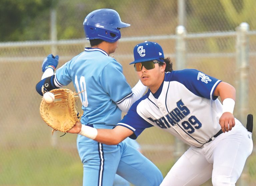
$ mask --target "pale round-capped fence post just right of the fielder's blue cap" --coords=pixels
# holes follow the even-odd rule
[[[176,27],[176,70],[186,68],[186,28],[182,25]],[[178,159],[185,151],[187,145],[180,139],[175,137],[175,152],[174,157]]]

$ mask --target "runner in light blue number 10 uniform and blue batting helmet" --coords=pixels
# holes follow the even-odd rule
[[[91,12],[83,25],[91,47],[55,74],[58,56],[49,55],[42,64],[44,74],[36,90],[42,95],[42,89],[47,92],[73,82],[76,92],[81,92],[81,123],[94,129],[112,129],[120,121],[121,112],[127,112],[146,90],[141,82],[131,89],[122,66],[109,56],[117,48],[120,28],[130,25],[112,9]],[[83,186],[113,186],[116,173],[136,186],[155,186],[163,180],[160,170],[125,142],[106,145],[78,135],[77,148],[83,163]]]

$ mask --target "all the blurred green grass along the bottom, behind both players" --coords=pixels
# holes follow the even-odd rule
[[[0,150],[3,152],[3,149]],[[145,155],[156,164],[163,176],[175,163],[175,158],[167,151],[146,150]],[[256,182],[255,162],[256,155],[253,154],[247,160],[246,170],[250,186]],[[79,186],[82,185],[83,168],[75,146],[71,149],[10,148],[1,153],[0,175],[1,186]],[[211,185],[211,181],[203,185]]]

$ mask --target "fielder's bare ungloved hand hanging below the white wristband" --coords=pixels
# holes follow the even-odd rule
[[[223,133],[228,132],[235,126],[235,117],[231,112],[224,112],[220,119],[219,124]]]

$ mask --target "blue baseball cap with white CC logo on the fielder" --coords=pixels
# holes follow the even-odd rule
[[[162,47],[155,42],[145,41],[136,45],[133,49],[134,61],[130,64],[144,61],[157,60],[164,62],[164,52]]]

